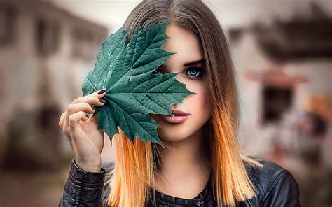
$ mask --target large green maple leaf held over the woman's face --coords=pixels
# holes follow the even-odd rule
[[[123,28],[111,34],[100,48],[95,68],[85,78],[83,95],[106,88],[107,103],[96,109],[98,129],[109,138],[118,128],[134,144],[134,137],[163,146],[157,134],[160,126],[148,114],[171,115],[172,104],[181,103],[191,94],[186,85],[176,80],[179,73],[153,73],[158,66],[177,52],[167,52],[162,46],[169,38],[164,22],[151,23],[142,30],[138,26],[129,43]]]

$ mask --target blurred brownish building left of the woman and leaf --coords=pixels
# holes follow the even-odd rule
[[[0,1],[1,165],[29,169],[64,157],[60,115],[82,95],[107,34],[49,3]]]

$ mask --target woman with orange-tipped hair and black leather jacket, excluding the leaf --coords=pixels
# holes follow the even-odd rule
[[[119,130],[116,162],[101,163],[104,133],[83,112],[103,106],[106,93],[75,99],[59,121],[75,155],[60,206],[300,206],[289,171],[240,152],[235,71],[212,11],[201,1],[141,1],[123,28],[130,38],[168,17],[164,50],[177,54],[156,72],[181,72],[177,80],[197,93],[172,105],[186,120],[150,114],[167,148],[132,145]]]

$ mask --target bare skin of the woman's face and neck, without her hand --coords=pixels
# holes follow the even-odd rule
[[[191,78],[190,76],[199,76],[200,73],[195,69],[188,71],[191,66],[185,67],[184,63],[202,59],[203,53],[200,41],[191,32],[170,23],[166,34],[170,38],[167,39],[164,50],[177,54],[172,55],[160,71],[181,72],[177,80],[197,94],[190,95],[182,103],[171,107],[172,110],[179,109],[191,114],[185,122],[170,124],[161,118],[163,115],[150,115],[160,124],[157,128],[158,135],[167,145],[166,148],[159,148],[162,170],[155,180],[155,190],[174,197],[193,199],[209,180],[210,169],[202,156],[202,142],[205,138],[202,126],[209,120],[210,109],[207,104],[205,76]]]

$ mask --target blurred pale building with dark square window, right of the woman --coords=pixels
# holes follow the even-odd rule
[[[247,27],[230,28],[230,48],[241,79],[242,146],[248,153],[270,159],[300,153],[304,158],[303,153],[315,145],[317,155],[310,155],[311,162],[332,167],[328,12],[311,3],[305,15],[294,10],[288,20],[275,18],[270,24],[256,20]],[[313,97],[324,101],[313,106]],[[303,131],[298,125],[303,117],[312,129]]]

